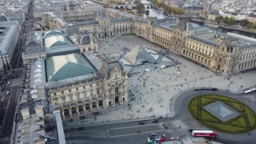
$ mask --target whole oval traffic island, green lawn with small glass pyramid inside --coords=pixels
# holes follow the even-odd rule
[[[240,101],[220,95],[200,95],[188,103],[189,113],[208,128],[247,133],[256,128],[256,114]]]

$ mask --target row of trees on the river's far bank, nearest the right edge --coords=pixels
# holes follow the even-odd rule
[[[227,16],[223,17],[223,16],[216,16],[215,20],[218,22],[218,24],[220,23],[220,21],[224,22],[225,24],[240,24],[243,27],[247,27],[249,29],[252,29],[254,27],[254,24],[250,21],[248,21],[247,19],[243,19],[243,20],[235,20],[235,18],[232,16],[230,18],[228,18]]]

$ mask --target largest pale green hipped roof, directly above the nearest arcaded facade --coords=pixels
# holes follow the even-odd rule
[[[47,80],[54,81],[88,75],[96,70],[80,53],[72,53],[46,59],[46,72]]]

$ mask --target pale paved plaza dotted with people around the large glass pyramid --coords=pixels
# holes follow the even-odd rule
[[[168,53],[168,57],[180,64],[165,69],[160,69],[160,64],[144,64],[133,67],[131,70],[134,73],[140,73],[129,77],[128,103],[116,104],[116,107],[102,109],[100,111],[101,115],[96,117],[91,114],[85,115],[88,117],[85,120],[80,120],[79,116],[76,116],[73,118],[73,122],[66,120],[64,125],[171,116],[173,96],[188,88],[212,87],[242,92],[245,88],[255,86],[256,70],[248,70],[232,75],[218,74],[174,53],[166,52],[164,48],[135,35],[124,35],[97,41],[99,43],[99,53],[102,56],[107,53],[123,51],[127,48],[132,49],[140,44],[145,48]],[[158,68],[154,69],[156,66]],[[150,69],[150,72],[145,73],[145,69]]]

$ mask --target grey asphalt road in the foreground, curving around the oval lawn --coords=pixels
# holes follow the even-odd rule
[[[243,98],[242,94],[234,94],[225,91],[184,91],[181,92],[178,99],[175,101],[174,109],[175,116],[171,118],[163,118],[159,120],[159,123],[153,124],[152,120],[143,121],[145,125],[138,125],[139,122],[127,122],[127,123],[115,123],[115,124],[106,124],[106,125],[96,125],[85,127],[85,130],[79,130],[83,125],[74,126],[72,128],[65,128],[64,132],[67,141],[72,141],[72,143],[78,144],[80,142],[90,142],[95,141],[97,144],[144,144],[147,141],[149,133],[155,132],[158,135],[165,134],[168,138],[185,135],[188,139],[192,138],[191,133],[188,129],[200,129],[208,130],[208,128],[202,127],[197,123],[187,111],[187,103],[189,99],[197,96],[199,94],[219,94],[224,96],[229,96],[241,101],[247,101],[248,99]],[[242,99],[241,99],[242,98]],[[250,106],[256,110],[256,101],[249,102]],[[170,120],[171,119],[171,120]],[[179,128],[179,124],[176,125],[175,122],[179,121],[182,125],[187,125],[187,128]],[[168,130],[163,128],[162,125],[168,125]],[[140,132],[140,133],[139,133]],[[224,143],[224,144],[241,144],[241,141],[246,144],[254,144],[254,137],[256,136],[256,131],[251,132],[251,136],[248,136],[248,133],[239,134],[234,137],[233,134],[227,133],[218,133],[218,138],[215,141]]]

